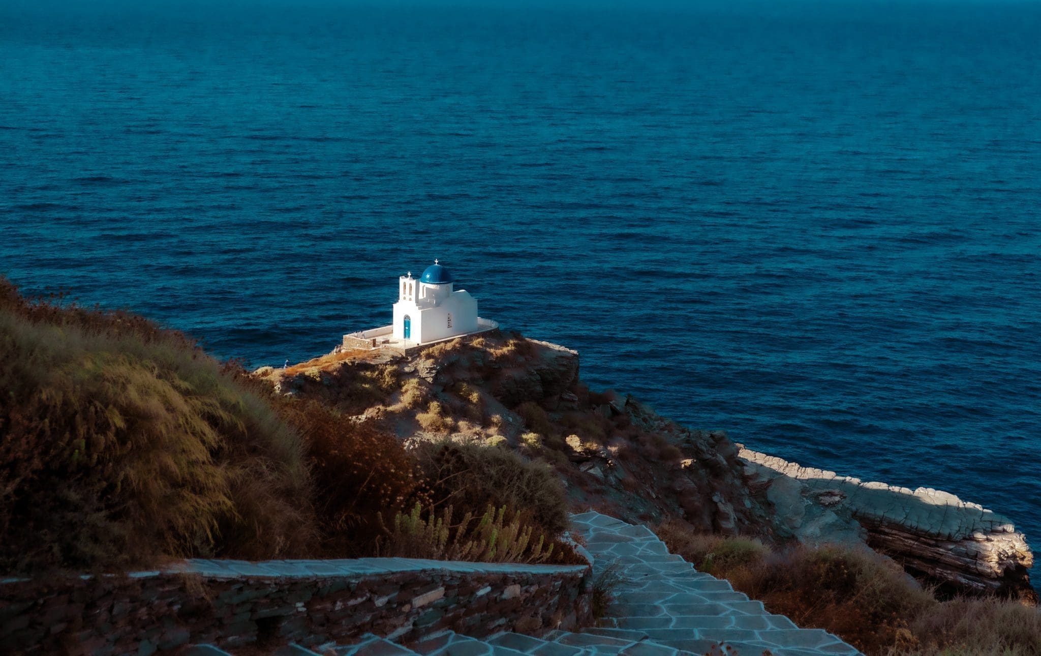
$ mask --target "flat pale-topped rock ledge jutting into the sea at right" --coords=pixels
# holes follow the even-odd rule
[[[1008,518],[932,487],[864,482],[743,447],[738,455],[750,485],[771,503],[783,536],[866,541],[957,590],[1036,600],[1033,552]]]

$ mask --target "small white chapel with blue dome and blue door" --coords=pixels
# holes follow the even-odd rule
[[[412,273],[398,279],[398,302],[393,304],[393,338],[427,344],[487,330],[477,317],[477,299],[465,289],[455,289],[452,272],[434,260],[420,278]]]

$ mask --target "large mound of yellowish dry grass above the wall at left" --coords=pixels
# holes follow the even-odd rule
[[[0,570],[306,549],[298,435],[191,338],[0,280]]]

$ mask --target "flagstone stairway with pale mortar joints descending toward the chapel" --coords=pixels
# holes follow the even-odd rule
[[[498,633],[474,638],[452,631],[406,648],[375,635],[329,647],[338,656],[854,656],[860,654],[821,629],[799,629],[784,615],[766,612],[762,602],[735,591],[729,582],[696,572],[645,526],[599,512],[572,515],[573,531],[585,541],[599,575],[614,563],[621,583],[601,627],[552,631],[541,637]],[[224,654],[197,646],[193,656]],[[320,656],[289,645],[279,656]]]

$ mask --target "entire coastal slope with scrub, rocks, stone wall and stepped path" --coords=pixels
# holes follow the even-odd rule
[[[3,653],[1041,645],[1004,518],[684,427],[564,347],[344,344],[251,374],[2,278],[0,332]]]

